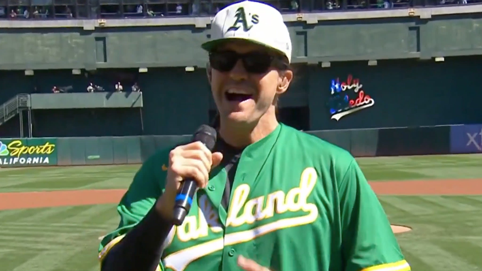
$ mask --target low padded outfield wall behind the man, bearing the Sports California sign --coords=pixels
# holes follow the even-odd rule
[[[355,157],[482,152],[480,124],[307,133]],[[187,143],[190,137],[4,138],[0,139],[0,167],[142,163],[156,150]]]

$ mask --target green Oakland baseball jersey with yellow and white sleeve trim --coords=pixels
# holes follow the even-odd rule
[[[99,246],[100,260],[161,195],[169,151],[136,173],[117,207],[118,229]],[[225,169],[212,170],[164,242],[159,270],[240,270],[239,255],[273,271],[410,270],[374,191],[344,149],[280,124],[242,151],[228,210],[220,204],[226,179]]]

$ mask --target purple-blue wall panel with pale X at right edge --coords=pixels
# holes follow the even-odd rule
[[[482,124],[450,126],[450,152],[482,152]]]

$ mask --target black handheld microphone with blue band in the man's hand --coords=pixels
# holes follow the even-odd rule
[[[192,136],[192,142],[201,141],[210,151],[214,149],[216,143],[216,130],[208,125],[201,125]],[[175,226],[180,226],[191,209],[192,198],[198,190],[198,184],[193,179],[186,179],[182,183],[181,190],[178,191],[174,204]]]

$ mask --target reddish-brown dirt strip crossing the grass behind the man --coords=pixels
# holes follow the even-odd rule
[[[482,195],[482,179],[370,182],[380,195]],[[118,203],[125,190],[0,193],[0,210]]]

